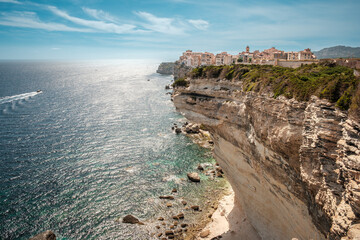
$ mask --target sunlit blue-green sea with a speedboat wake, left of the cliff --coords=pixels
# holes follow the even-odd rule
[[[186,174],[211,152],[149,60],[0,62],[0,239],[151,239],[156,219],[204,204],[223,182]],[[38,91],[41,90],[41,91]],[[160,195],[177,189],[169,210]],[[145,225],[122,223],[132,214]],[[197,215],[187,221],[196,222]]]

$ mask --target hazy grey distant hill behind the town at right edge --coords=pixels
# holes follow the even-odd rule
[[[360,58],[360,47],[335,46],[314,51],[317,58]]]

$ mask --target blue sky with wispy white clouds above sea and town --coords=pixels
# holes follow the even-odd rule
[[[359,0],[0,0],[0,59],[360,46]]]

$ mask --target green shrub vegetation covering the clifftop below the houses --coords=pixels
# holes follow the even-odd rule
[[[271,65],[231,65],[195,68],[191,78],[220,78],[242,81],[244,91],[269,92],[308,101],[312,95],[328,99],[341,110],[360,112],[360,78],[353,69],[324,62],[285,68]]]

